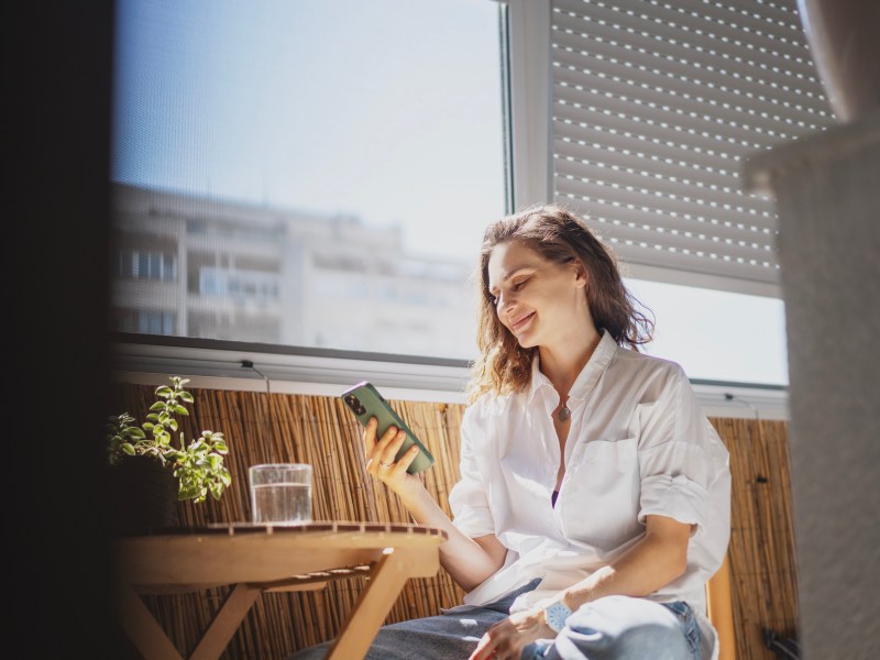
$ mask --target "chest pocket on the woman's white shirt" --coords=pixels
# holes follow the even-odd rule
[[[565,536],[613,550],[641,531],[635,438],[592,440],[574,449],[560,507]]]

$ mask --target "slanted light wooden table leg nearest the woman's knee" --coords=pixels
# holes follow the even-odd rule
[[[327,660],[360,660],[376,636],[417,562],[405,550],[394,550],[378,560],[370,581],[354,604],[327,653]]]

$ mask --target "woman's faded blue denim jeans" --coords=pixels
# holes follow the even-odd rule
[[[466,660],[493,624],[509,615],[514,600],[540,580],[476,608],[453,607],[439,616],[380,628],[366,660]],[[290,656],[319,660],[331,642]],[[684,602],[658,604],[644,598],[607,596],[572,614],[556,639],[527,646],[522,660],[701,660],[700,629]]]

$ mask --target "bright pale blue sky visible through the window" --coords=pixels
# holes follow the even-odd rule
[[[114,180],[399,224],[472,261],[504,213],[491,0],[120,0]],[[649,352],[788,383],[782,302],[628,280]]]

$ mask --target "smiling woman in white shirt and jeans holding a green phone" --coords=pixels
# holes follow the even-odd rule
[[[700,659],[705,583],[729,538],[728,454],[682,369],[582,220],[542,206],[491,224],[479,348],[450,520],[406,472],[404,435],[365,430],[367,471],[449,540],[466,592],[381,628],[367,658]],[[296,658],[321,657],[327,645]]]

